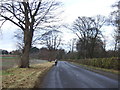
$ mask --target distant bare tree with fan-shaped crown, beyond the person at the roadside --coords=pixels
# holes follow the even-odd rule
[[[44,33],[41,37],[40,44],[45,45],[49,52],[49,59],[54,60],[57,58],[58,49],[62,44],[60,31],[51,30]]]

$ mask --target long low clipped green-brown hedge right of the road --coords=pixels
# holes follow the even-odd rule
[[[100,68],[120,70],[120,64],[119,64],[120,59],[118,59],[117,57],[80,59],[77,60],[77,62],[85,65],[100,67]]]

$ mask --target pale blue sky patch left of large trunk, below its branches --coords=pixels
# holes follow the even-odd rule
[[[14,32],[16,29],[17,27],[10,22],[6,22],[3,25],[2,34],[0,35],[0,49],[5,49],[8,51],[16,49],[16,41],[14,38]]]

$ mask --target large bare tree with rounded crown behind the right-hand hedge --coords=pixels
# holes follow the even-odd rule
[[[73,23],[72,31],[79,38],[79,49],[84,53],[84,57],[92,58],[96,41],[102,36],[100,29],[105,24],[104,16],[96,17],[78,17]]]

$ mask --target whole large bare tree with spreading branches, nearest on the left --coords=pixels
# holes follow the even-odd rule
[[[58,9],[58,6],[60,6],[60,2],[54,0],[1,1],[0,19],[3,21],[2,25],[4,22],[10,21],[23,31],[24,47],[21,68],[29,67],[29,52],[34,31],[42,28],[43,24],[49,26],[56,21],[55,10]]]

